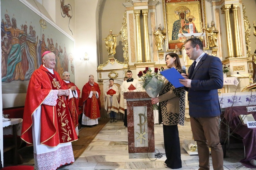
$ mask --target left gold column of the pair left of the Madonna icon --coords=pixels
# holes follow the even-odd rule
[[[141,51],[141,32],[140,32],[140,10],[134,10],[136,21],[136,46],[137,46],[137,63],[142,63]]]

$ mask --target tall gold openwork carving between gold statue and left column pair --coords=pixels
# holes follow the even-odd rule
[[[124,18],[123,18],[124,22],[122,23],[122,28],[121,28],[121,38],[123,39],[122,40],[122,43],[124,43],[124,47],[123,47],[123,50],[124,50],[124,61],[125,61],[125,64],[129,64],[129,56],[128,56],[128,41],[127,41],[127,16],[126,16],[126,11],[124,13]]]

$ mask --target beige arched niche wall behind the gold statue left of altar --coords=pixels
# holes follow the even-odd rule
[[[125,0],[103,0],[99,12],[99,56],[100,64],[108,61],[108,51],[105,47],[105,38],[109,35],[109,30],[112,29],[112,34],[118,34],[124,22],[124,12],[126,8],[123,6]],[[122,38],[119,35],[116,43],[115,58],[121,62],[124,61]]]

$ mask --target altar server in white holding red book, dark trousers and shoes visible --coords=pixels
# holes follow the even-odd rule
[[[109,79],[109,85],[105,89],[106,103],[105,110],[110,114],[110,122],[117,122],[116,113],[118,113],[120,99],[119,88],[114,84],[114,79]]]

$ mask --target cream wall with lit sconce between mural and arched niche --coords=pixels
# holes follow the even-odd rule
[[[89,75],[94,75],[97,82],[97,33],[96,12],[98,0],[75,0],[75,72],[76,86],[82,90]],[[81,61],[84,53],[88,61]]]

